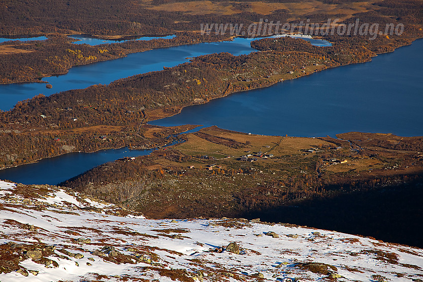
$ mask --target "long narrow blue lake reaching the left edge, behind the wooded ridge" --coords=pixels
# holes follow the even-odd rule
[[[72,67],[66,75],[43,78],[53,86],[47,89],[44,83],[15,83],[0,85],[0,109],[9,110],[18,101],[32,98],[37,94],[51,94],[71,89],[84,89],[95,84],[109,84],[129,76],[163,70],[187,62],[186,58],[218,52],[233,55],[249,54],[248,38],[235,38],[233,41],[183,45],[170,48],[128,54],[127,57],[83,66]]]

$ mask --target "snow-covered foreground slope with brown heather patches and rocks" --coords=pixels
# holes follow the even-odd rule
[[[2,282],[423,279],[421,249],[258,220],[150,220],[52,186],[0,181],[0,226]]]

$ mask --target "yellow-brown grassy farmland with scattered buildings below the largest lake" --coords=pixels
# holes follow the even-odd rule
[[[362,139],[376,136],[387,140],[390,142],[389,144],[393,144],[393,141],[398,143],[398,140],[403,138],[391,134],[359,134],[361,133],[341,134],[340,136],[352,138],[361,136]],[[186,134],[184,138],[187,140],[186,142],[172,146],[172,150],[177,150],[178,154],[183,156],[180,162],[170,160],[166,156],[155,158],[154,162],[161,167],[174,167],[181,172],[190,166],[194,166],[195,169],[214,166],[213,170],[217,168],[236,170],[246,167],[262,170],[265,168],[270,173],[275,172],[275,178],[286,178],[287,172],[289,175],[298,172],[315,173],[315,163],[321,161],[320,169],[322,173],[327,174],[342,175],[343,173],[362,172],[369,175],[377,172],[376,174],[392,175],[391,170],[398,168],[398,163],[403,162],[401,159],[411,153],[410,151],[376,148],[373,144],[366,148],[361,147],[362,153],[359,153],[360,150],[356,145],[339,149],[337,144],[319,138],[263,136],[222,130],[215,126]],[[414,139],[412,138],[412,140]],[[315,152],[310,152],[311,149]],[[377,155],[373,154],[375,150],[378,151]],[[258,152],[262,152],[264,156],[270,154],[273,156],[258,157]],[[245,155],[249,155],[248,162],[240,160]],[[202,158],[202,156],[209,158]],[[337,161],[334,162],[332,159]],[[250,162],[251,160],[254,162]],[[339,163],[339,161],[346,162]]]

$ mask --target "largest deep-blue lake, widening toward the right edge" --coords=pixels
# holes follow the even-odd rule
[[[423,135],[423,39],[372,62],[231,94],[149,122],[217,125],[264,135],[334,136],[349,131]]]

